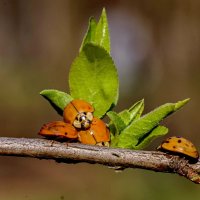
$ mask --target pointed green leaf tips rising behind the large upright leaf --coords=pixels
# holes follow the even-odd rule
[[[87,43],[101,46],[110,53],[110,34],[105,9],[103,9],[98,23],[96,23],[93,17],[90,18],[88,30],[81,44],[80,51]]]

